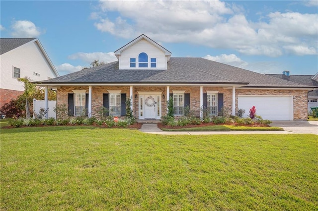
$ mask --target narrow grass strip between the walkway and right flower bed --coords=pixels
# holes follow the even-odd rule
[[[163,131],[281,131],[280,127],[247,127],[234,125],[208,125],[202,127],[169,129],[161,128]]]

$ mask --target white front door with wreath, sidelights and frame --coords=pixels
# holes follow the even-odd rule
[[[161,92],[138,92],[139,93],[139,119],[161,118]]]

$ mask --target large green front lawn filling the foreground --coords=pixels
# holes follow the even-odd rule
[[[0,133],[0,210],[318,210],[317,135]]]

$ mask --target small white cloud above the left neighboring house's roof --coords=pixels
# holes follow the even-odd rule
[[[28,20],[17,20],[11,25],[13,37],[39,37],[41,32],[39,27]]]

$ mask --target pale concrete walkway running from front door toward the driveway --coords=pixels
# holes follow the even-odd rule
[[[143,124],[140,131],[159,135],[295,134],[292,131],[162,131],[157,124]]]

